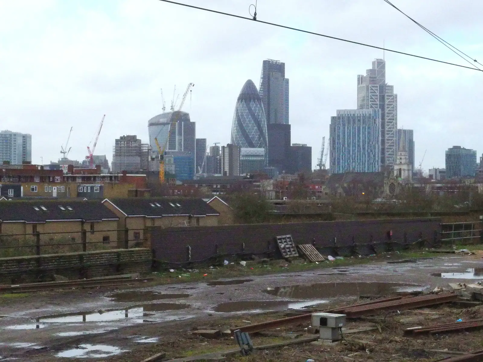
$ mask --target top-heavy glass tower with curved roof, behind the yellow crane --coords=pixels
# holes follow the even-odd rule
[[[191,170],[195,170],[196,155],[196,122],[191,122],[189,113],[183,111],[164,112],[158,114],[148,121],[149,145],[151,146],[151,156],[157,157],[158,151],[155,138],[157,138],[161,147],[166,144],[171,129],[171,135],[166,147],[166,154],[171,152],[179,154],[182,152],[185,156],[191,157]],[[176,158],[174,159],[176,163]],[[185,158],[183,158],[185,164]],[[157,164],[157,165],[156,165]],[[159,163],[152,163],[153,166],[159,167]]]

